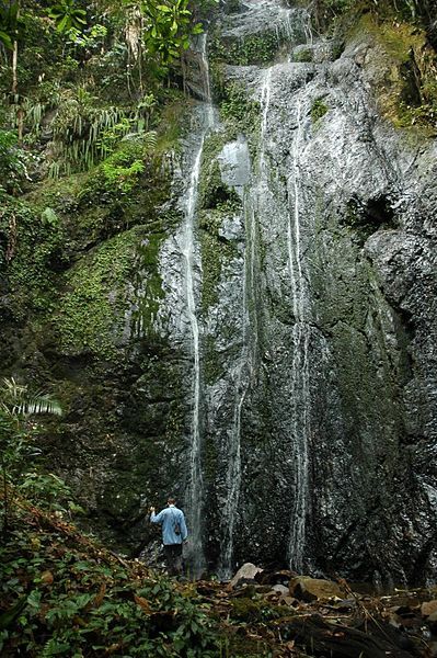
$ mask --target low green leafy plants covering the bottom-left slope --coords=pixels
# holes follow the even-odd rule
[[[16,502],[0,547],[2,654],[218,655],[207,606],[193,590],[117,560],[55,514]]]

